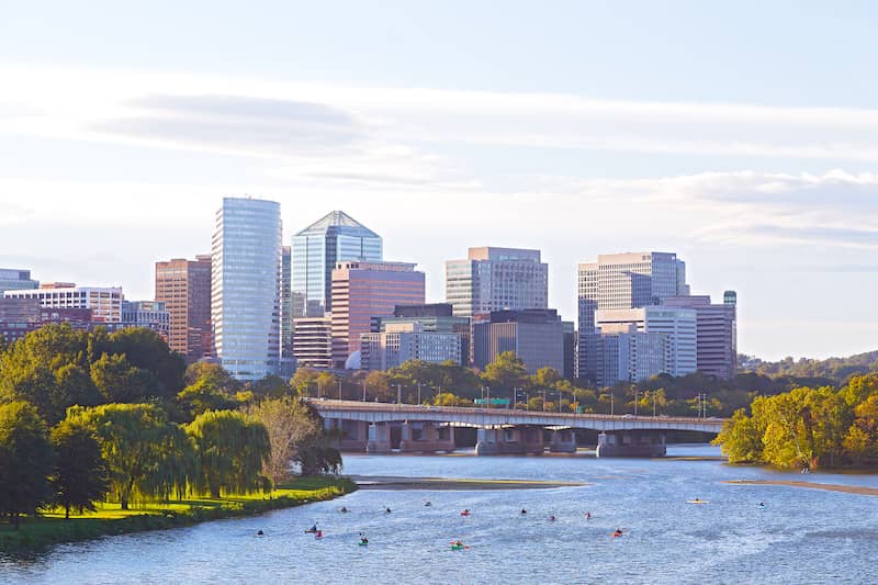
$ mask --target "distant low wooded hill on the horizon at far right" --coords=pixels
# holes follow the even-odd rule
[[[770,376],[829,378],[843,384],[852,375],[878,372],[878,350],[847,358],[825,360],[801,358],[798,361],[792,358],[785,358],[780,361],[763,361],[753,356],[739,356],[738,363],[740,372],[755,372]]]

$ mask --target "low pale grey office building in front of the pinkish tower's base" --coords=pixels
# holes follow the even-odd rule
[[[360,347],[363,370],[386,371],[409,360],[461,363],[459,334],[427,331],[417,322],[386,324],[382,333],[362,334]]]

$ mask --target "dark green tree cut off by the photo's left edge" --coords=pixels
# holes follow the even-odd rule
[[[46,424],[25,402],[0,405],[0,513],[15,529],[20,515],[52,499],[52,446]]]

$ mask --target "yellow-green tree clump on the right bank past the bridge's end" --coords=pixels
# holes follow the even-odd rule
[[[757,396],[724,425],[716,442],[731,463],[779,468],[878,464],[878,374],[840,389],[796,387]]]

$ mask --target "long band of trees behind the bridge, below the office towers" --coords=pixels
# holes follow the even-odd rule
[[[595,387],[587,380],[567,380],[552,368],[529,374],[514,352],[497,356],[484,371],[452,361],[429,363],[412,360],[386,372],[334,374],[302,368],[291,384],[302,396],[354,401],[476,406],[482,398],[508,401],[530,410],[595,414],[634,413],[668,416],[731,416],[757,395],[774,395],[803,384],[829,384],[823,379],[768,376],[741,373],[732,380],[700,372],[674,378],[667,374],[637,383]]]

